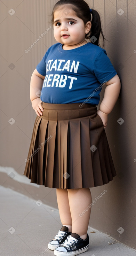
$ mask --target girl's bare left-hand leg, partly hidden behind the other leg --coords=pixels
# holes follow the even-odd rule
[[[67,189],[57,188],[57,203],[59,215],[63,226],[69,228],[69,232],[72,231],[72,219],[69,206],[69,198]]]

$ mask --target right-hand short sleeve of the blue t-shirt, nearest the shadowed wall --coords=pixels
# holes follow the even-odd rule
[[[109,81],[117,74],[105,50],[98,54],[94,62],[93,73],[100,83]]]

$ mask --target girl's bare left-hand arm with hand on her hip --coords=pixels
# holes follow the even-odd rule
[[[30,81],[30,100],[32,101],[32,107],[38,116],[42,115],[44,109],[41,105],[41,99],[35,93],[41,91],[44,79],[45,76],[40,75],[37,69],[33,71]]]

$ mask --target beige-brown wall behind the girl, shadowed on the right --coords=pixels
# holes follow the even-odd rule
[[[136,1],[87,2],[101,13],[109,40],[104,48],[122,83],[106,128],[117,176],[107,185],[91,188],[95,203],[89,225],[136,249]],[[0,185],[57,208],[56,189],[33,185],[23,176],[36,118],[30,78],[45,52],[56,43],[53,29],[41,37],[51,25],[54,4],[55,0],[0,0]],[[122,124],[118,123],[120,118]],[[107,192],[98,197],[105,189]]]

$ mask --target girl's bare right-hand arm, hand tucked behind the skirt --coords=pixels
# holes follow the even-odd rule
[[[118,75],[115,75],[108,82],[105,83],[106,89],[104,92],[104,98],[101,102],[99,110],[97,111],[98,115],[101,117],[104,128],[107,125],[107,116],[113,110],[113,107],[119,97],[120,93],[120,79]]]

